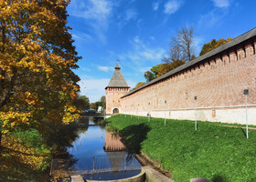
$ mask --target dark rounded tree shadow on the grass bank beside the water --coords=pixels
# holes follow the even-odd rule
[[[133,154],[138,154],[141,151],[142,142],[146,139],[149,131],[149,126],[140,124],[124,127],[120,131],[120,135],[123,137],[122,141],[125,147]]]

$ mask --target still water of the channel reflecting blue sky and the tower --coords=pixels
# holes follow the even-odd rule
[[[70,174],[94,180],[133,177],[141,172],[140,163],[128,152],[120,136],[97,125],[93,117],[83,117],[82,124],[86,127],[79,130],[73,147],[68,148],[71,159],[59,162],[59,166],[66,166]]]

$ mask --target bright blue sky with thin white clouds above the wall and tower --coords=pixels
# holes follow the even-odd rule
[[[129,86],[169,54],[182,26],[195,29],[195,54],[213,38],[241,35],[256,27],[255,0],[71,0],[68,25],[79,56],[80,95],[105,95],[116,60]]]

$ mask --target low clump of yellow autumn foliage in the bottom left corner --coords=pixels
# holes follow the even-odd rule
[[[0,179],[6,182],[21,181],[25,175],[36,173],[39,168],[49,166],[49,158],[48,150],[28,147],[16,136],[3,136],[0,155]],[[39,181],[39,179],[37,180]]]

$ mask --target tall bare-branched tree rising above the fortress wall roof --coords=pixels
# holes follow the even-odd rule
[[[176,32],[170,41],[170,54],[172,60],[191,61],[194,57],[194,28],[184,26]]]

